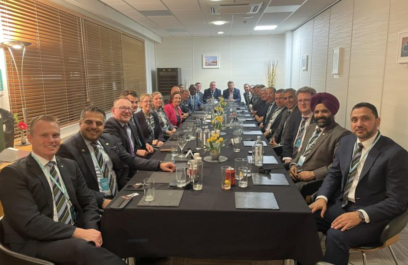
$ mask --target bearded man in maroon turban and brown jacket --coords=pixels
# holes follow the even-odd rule
[[[338,142],[344,135],[351,132],[334,121],[340,103],[329,93],[318,93],[310,100],[316,123],[306,130],[304,144],[290,164],[289,174],[296,185],[302,182],[322,179],[333,163]]]

